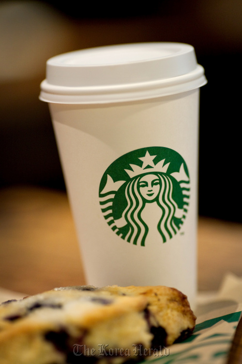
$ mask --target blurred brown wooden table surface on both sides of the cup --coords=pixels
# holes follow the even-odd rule
[[[242,224],[199,217],[198,289],[214,291],[227,272],[242,276]],[[64,192],[0,190],[0,287],[36,294],[85,284]]]

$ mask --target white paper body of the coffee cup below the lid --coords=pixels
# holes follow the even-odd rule
[[[199,87],[49,102],[86,280],[197,291]]]

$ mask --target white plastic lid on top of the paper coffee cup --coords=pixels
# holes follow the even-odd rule
[[[123,44],[50,58],[40,99],[66,104],[132,101],[173,95],[206,83],[204,69],[188,44]]]

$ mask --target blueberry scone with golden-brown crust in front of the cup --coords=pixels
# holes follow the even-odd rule
[[[0,305],[0,364],[137,362],[187,337],[195,319],[173,288],[56,288]]]

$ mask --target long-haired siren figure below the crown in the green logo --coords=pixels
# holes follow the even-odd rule
[[[124,240],[144,246],[152,225],[151,217],[153,220],[156,217],[155,228],[163,242],[177,233],[179,228],[174,223],[174,217],[181,218],[183,209],[179,209],[172,198],[172,190],[170,177],[160,172],[139,175],[127,183],[125,188],[127,206],[121,218],[115,220],[119,229],[127,224],[129,226]],[[149,210],[148,214],[146,210]]]

